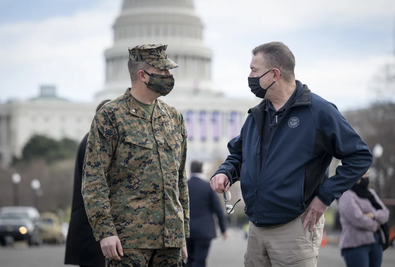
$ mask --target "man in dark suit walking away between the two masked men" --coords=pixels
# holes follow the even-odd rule
[[[216,237],[213,215],[218,218],[222,237],[226,239],[225,208],[220,205],[218,195],[202,176],[203,164],[191,163],[191,178],[188,180],[190,237],[186,239],[188,267],[206,266],[211,239]]]

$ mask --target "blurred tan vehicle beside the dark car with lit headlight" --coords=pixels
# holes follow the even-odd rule
[[[62,222],[55,213],[44,212],[41,214],[41,233],[45,243],[63,244],[65,242]]]

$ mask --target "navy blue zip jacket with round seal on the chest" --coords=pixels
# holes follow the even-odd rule
[[[214,174],[239,179],[245,213],[257,226],[294,220],[315,196],[331,205],[372,164],[369,148],[337,107],[296,83],[281,116],[270,118],[269,100],[248,111],[240,135],[228,143],[230,155]],[[333,157],[342,165],[328,179]]]

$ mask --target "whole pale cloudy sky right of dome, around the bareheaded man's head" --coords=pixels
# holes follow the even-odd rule
[[[381,34],[392,34],[382,23],[393,23],[394,1],[195,3],[206,26],[205,43],[213,48],[214,86],[233,97],[253,97],[246,78],[251,50],[269,41],[286,43],[296,57],[296,78],[341,110],[371,102],[375,96],[367,85],[378,68],[392,58],[380,50],[385,44],[374,44],[374,40],[372,45],[361,44],[356,40],[369,34],[364,26],[369,23],[376,27],[374,30],[387,27]],[[336,39],[328,40],[325,29],[333,30],[331,36]]]

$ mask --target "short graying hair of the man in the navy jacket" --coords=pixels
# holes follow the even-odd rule
[[[258,45],[252,49],[252,55],[261,53],[267,68],[277,68],[286,81],[295,79],[295,56],[282,42]]]

